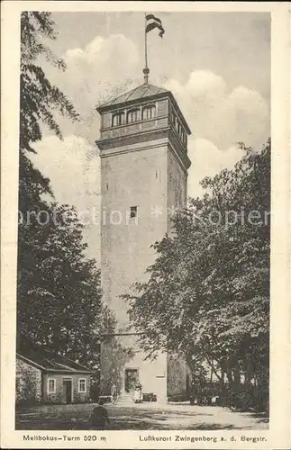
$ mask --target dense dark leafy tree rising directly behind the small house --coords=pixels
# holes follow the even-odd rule
[[[98,340],[101,288],[82,229],[68,205],[52,204],[23,223],[17,314],[21,336],[86,364]]]

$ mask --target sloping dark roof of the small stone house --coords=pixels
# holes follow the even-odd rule
[[[76,363],[67,356],[54,354],[44,347],[39,346],[25,346],[16,354],[20,359],[23,359],[27,364],[34,365],[41,370],[48,372],[71,372],[92,374],[93,371]]]

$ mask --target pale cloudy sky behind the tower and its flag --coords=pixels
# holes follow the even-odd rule
[[[172,91],[192,130],[188,194],[199,196],[206,175],[232,168],[237,143],[261,148],[270,135],[270,14],[155,13],[163,23],[148,34],[150,83]],[[41,62],[50,81],[68,95],[78,123],[59,117],[64,139],[47,130],[33,162],[50,177],[56,200],[78,211],[100,205],[95,106],[143,83],[144,14],[54,13],[58,39],[50,49],[67,63],[60,72]],[[98,255],[97,226],[86,228]]]

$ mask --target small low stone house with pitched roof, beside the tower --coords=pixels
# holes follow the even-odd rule
[[[66,356],[25,347],[16,353],[16,403],[85,403],[92,374]]]

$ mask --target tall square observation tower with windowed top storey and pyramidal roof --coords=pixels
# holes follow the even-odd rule
[[[144,282],[154,262],[154,242],[170,232],[173,208],[186,206],[187,136],[190,130],[169,91],[145,82],[97,108],[101,116],[101,280],[105,303],[117,328],[101,351],[101,391],[117,383],[122,398],[139,382],[158,401],[185,394],[189,376],[184,361],[159,354],[145,360],[137,345],[139,330],[129,331],[128,304],[121,295]],[[110,338],[111,337],[111,338]],[[133,348],[125,362],[110,352],[112,339]]]

